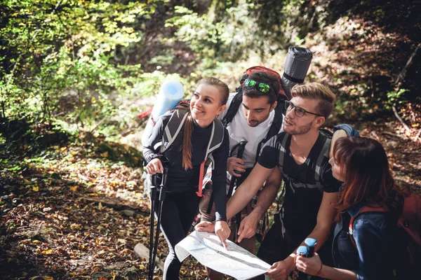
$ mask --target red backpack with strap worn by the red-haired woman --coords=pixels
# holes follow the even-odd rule
[[[366,212],[388,212],[383,207],[363,207],[359,214]],[[352,237],[352,228],[354,219],[349,221],[349,234],[351,241],[356,247],[354,237]],[[398,227],[403,233],[402,255],[399,255],[401,264],[398,264],[398,276],[403,274],[410,275],[419,269],[421,265],[421,197],[415,193],[404,196],[403,209],[398,219]],[[418,267],[417,267],[418,266]],[[405,278],[402,278],[405,279]]]

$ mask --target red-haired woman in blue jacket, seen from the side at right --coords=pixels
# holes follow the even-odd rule
[[[297,269],[326,279],[392,279],[401,195],[389,171],[385,149],[373,139],[344,137],[335,143],[330,164],[333,176],[345,182],[335,204],[335,267],[323,265],[315,254],[314,258],[298,256]],[[359,214],[367,205],[389,211]],[[353,231],[349,232],[351,217]]]

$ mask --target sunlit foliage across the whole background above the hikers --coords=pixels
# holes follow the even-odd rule
[[[187,95],[203,76],[222,78],[234,90],[243,69],[265,64],[281,72],[288,46],[318,45],[307,35],[330,25],[322,38],[327,48],[354,55],[349,66],[333,57],[328,66],[338,64],[340,70],[327,71],[327,81],[344,92],[339,114],[349,116],[347,108],[354,106],[354,115],[362,118],[374,103],[388,109],[410,99],[385,81],[392,76],[385,69],[394,69],[396,60],[373,58],[377,52],[358,44],[380,37],[379,30],[352,15],[370,16],[380,25],[391,17],[391,7],[342,0],[4,0],[0,117],[116,140],[138,125],[135,116],[145,108],[137,101],[158,92],[163,80],[180,80]],[[394,48],[394,39],[385,39],[385,48]]]

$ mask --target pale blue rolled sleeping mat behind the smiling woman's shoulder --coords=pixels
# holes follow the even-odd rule
[[[145,131],[142,134],[142,145],[145,145],[147,139],[151,136],[155,123],[168,110],[177,106],[178,102],[184,97],[185,90],[177,80],[166,80],[159,90],[155,99],[154,109],[147,121]]]

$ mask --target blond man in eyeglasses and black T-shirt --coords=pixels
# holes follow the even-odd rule
[[[258,163],[227,204],[227,216],[232,216],[274,170],[281,172],[286,196],[258,252],[259,258],[273,264],[266,273],[272,279],[288,279],[295,268],[295,251],[306,237],[317,240],[316,251],[321,248],[323,263],[331,262],[329,242],[321,246],[332,230],[335,218],[332,204],[338,201],[340,187],[328,163],[331,139],[319,132],[333,110],[335,95],[319,83],[295,85],[291,95],[293,98],[285,103],[284,132],[262,147]],[[350,125],[335,128],[342,134],[358,134]],[[211,231],[209,224],[197,228]]]

